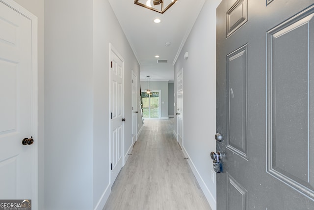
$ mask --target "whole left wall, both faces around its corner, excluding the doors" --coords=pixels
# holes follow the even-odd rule
[[[110,194],[109,43],[125,60],[127,152],[139,64],[110,4],[45,1],[45,210],[102,210]]]

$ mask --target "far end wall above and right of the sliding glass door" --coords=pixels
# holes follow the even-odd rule
[[[146,90],[147,81],[141,81],[141,89]],[[152,81],[149,82],[150,90],[161,90],[161,113],[160,119],[168,119],[168,81]],[[164,103],[162,103],[164,102]]]

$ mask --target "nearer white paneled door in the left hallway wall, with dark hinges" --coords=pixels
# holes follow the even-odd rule
[[[111,184],[123,166],[123,60],[115,51],[110,53],[110,145],[111,145]]]

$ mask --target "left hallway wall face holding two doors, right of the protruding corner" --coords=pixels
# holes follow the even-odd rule
[[[109,43],[125,60],[125,156],[132,147],[132,70],[140,77],[139,64],[107,0],[94,0],[94,206],[102,210],[110,193],[109,182]],[[110,30],[108,30],[110,29]],[[139,79],[137,81],[139,87]],[[138,88],[138,104],[139,104]],[[142,126],[141,122],[140,127]],[[139,127],[139,128],[140,128]],[[105,141],[104,141],[105,140]],[[114,180],[112,180],[113,182]]]

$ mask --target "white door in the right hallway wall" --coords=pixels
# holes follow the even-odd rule
[[[183,69],[177,75],[177,135],[178,142],[183,147]]]

